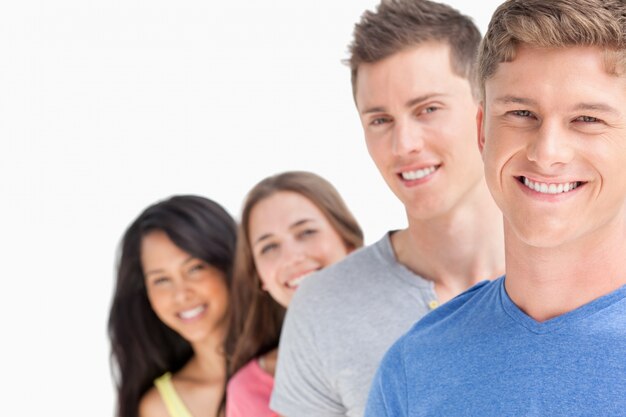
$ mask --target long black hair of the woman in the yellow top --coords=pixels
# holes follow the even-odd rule
[[[166,371],[180,370],[193,355],[189,342],[157,317],[148,300],[141,241],[155,230],[222,271],[226,284],[231,285],[236,225],[216,202],[192,195],[174,196],[146,208],[133,221],[120,245],[108,322],[117,417],[137,417],[141,397],[154,379]]]

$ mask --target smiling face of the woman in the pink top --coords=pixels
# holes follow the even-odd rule
[[[295,192],[279,191],[257,203],[249,230],[263,288],[284,307],[304,279],[348,254],[322,212]]]

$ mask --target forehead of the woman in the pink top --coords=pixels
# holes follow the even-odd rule
[[[283,232],[303,219],[325,221],[320,209],[302,194],[278,191],[259,201],[250,211],[250,239],[254,241],[255,236]]]

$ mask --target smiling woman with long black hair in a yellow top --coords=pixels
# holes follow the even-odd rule
[[[197,196],[126,230],[108,324],[118,417],[220,414],[235,241],[232,217]]]

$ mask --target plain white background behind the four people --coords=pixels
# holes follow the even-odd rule
[[[2,415],[112,415],[115,252],[158,199],[205,195],[237,217],[261,178],[304,169],[367,243],[405,225],[340,63],[376,3],[0,3]],[[448,3],[484,32],[500,1]]]

